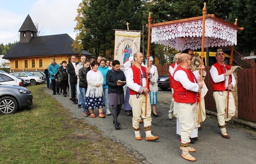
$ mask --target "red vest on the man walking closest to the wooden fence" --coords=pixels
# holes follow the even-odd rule
[[[223,67],[223,65],[219,64],[219,63],[215,63],[213,64],[213,66],[217,69],[218,71],[218,75],[222,75],[223,73],[225,73],[225,69]],[[226,70],[230,70],[230,67],[225,64]],[[224,76],[223,76],[224,79]],[[231,82],[232,82],[232,78],[231,78]],[[231,83],[230,82],[230,83]],[[225,91],[226,89],[226,81],[222,81],[222,82],[218,82],[218,83],[214,83],[214,81],[212,80],[212,90],[213,91]]]

